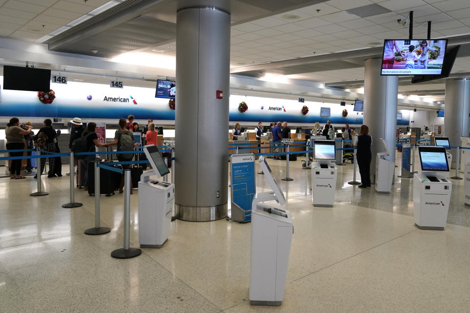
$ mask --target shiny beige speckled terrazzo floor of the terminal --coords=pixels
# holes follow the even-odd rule
[[[162,249],[117,260],[123,196],[101,198],[101,224],[112,231],[87,236],[94,198],[76,190],[84,205],[64,209],[69,177],[43,176],[45,197],[29,196],[35,179],[0,179],[0,312],[470,312],[463,180],[452,180],[446,229],[419,230],[412,179],[377,194],[349,185],[352,165],[339,166],[335,205],[319,208],[300,161],[290,163],[289,182],[285,161],[268,162],[295,227],[281,307],[249,304],[251,224],[175,221]],[[262,175],[257,186],[267,191]],[[131,201],[137,247],[137,190]]]

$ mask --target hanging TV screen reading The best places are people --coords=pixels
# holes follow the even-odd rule
[[[441,75],[447,39],[385,39],[380,75]]]

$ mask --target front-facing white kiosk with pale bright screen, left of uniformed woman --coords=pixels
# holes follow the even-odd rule
[[[335,164],[334,140],[313,141],[312,202],[313,206],[333,206],[338,169]]]

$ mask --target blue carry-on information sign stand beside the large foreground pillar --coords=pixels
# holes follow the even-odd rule
[[[256,194],[255,156],[233,155],[232,164],[232,220],[251,221],[251,204]]]

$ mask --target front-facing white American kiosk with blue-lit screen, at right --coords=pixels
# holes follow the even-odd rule
[[[446,148],[418,147],[422,172],[413,179],[413,215],[420,229],[444,229],[452,183],[448,179]]]

